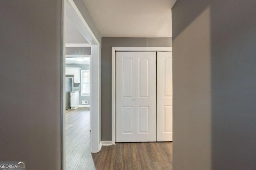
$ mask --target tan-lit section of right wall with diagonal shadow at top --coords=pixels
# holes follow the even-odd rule
[[[210,1],[178,0],[173,30],[173,169],[211,169]]]

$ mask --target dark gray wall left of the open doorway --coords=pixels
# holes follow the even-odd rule
[[[1,0],[0,16],[0,161],[60,170],[61,0]]]

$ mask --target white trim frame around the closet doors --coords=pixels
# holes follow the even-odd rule
[[[112,47],[112,145],[116,143],[116,51],[172,52],[172,47]]]

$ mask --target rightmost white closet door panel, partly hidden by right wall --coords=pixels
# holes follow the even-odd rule
[[[172,141],[172,53],[157,53],[157,136]]]

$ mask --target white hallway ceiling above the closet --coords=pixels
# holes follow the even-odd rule
[[[172,37],[176,0],[83,0],[103,37]]]

